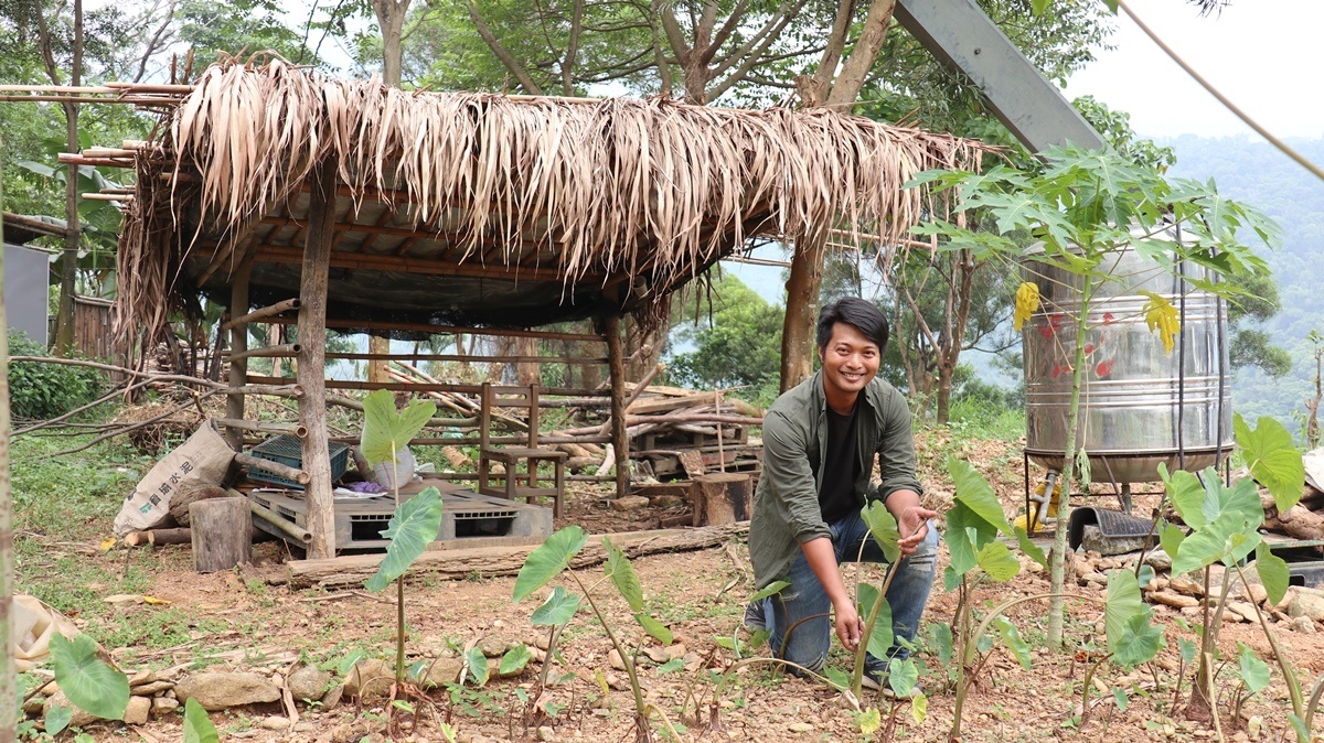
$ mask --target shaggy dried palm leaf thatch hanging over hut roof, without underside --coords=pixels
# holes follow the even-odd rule
[[[120,246],[120,307],[148,329],[197,234],[242,235],[319,164],[356,205],[406,198],[420,233],[458,218],[469,260],[535,241],[567,286],[645,271],[665,293],[752,237],[895,245],[932,208],[903,184],[988,151],[825,110],[405,93],[279,59],[209,67],[160,128]]]

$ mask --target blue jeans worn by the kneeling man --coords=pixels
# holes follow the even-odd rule
[[[838,565],[857,561],[887,562],[878,542],[873,537],[865,538],[869,528],[865,526],[859,513],[851,513],[830,524],[829,529]],[[924,613],[924,604],[928,603],[928,591],[933,586],[936,561],[937,528],[931,521],[924,542],[914,554],[902,558],[895,568],[896,576],[887,588],[895,640],[887,658],[875,658],[871,654],[866,657],[865,668],[870,673],[884,670],[892,657],[906,658],[910,654],[902,640],[912,641],[915,632],[919,631],[919,620]],[[782,660],[818,672],[828,660],[828,648],[831,645],[834,625],[828,616],[831,602],[804,553],[790,563],[786,580],[790,580],[790,586],[769,599],[772,612],[768,616],[768,629],[772,632],[769,639],[772,652]],[[792,627],[793,631],[788,637],[786,629]]]

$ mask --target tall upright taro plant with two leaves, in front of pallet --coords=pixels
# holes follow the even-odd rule
[[[432,402],[413,401],[401,411],[396,410],[395,398],[387,390],[377,390],[363,401],[363,456],[369,464],[400,461],[400,452],[433,414],[437,406]],[[404,574],[441,530],[442,501],[437,488],[428,488],[408,501],[400,502],[399,477],[392,477],[396,510],[381,535],[391,539],[387,557],[377,566],[377,572],[368,579],[367,588],[381,591],[393,580],[396,583],[396,689],[401,689],[405,678],[405,582]]]

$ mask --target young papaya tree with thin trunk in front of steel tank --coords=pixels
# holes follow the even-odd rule
[[[931,171],[914,185],[931,182],[935,190],[955,189],[960,202],[957,221],[933,219],[916,231],[941,235],[944,250],[969,250],[976,260],[1006,260],[1033,276],[1017,291],[1017,329],[1034,313],[1042,313],[1045,331],[1055,338],[1059,373],[1071,374],[1066,416],[1062,496],[1050,568],[1054,598],[1049,607],[1047,640],[1062,645],[1063,584],[1070,516],[1070,490],[1087,465],[1090,442],[1078,436],[1080,390],[1087,370],[1098,377],[1112,372],[1108,360],[1095,364],[1102,345],[1090,342],[1091,332],[1121,320],[1099,313],[1094,301],[1107,283],[1120,283],[1133,293],[1158,275],[1174,275],[1182,263],[1202,266],[1222,276],[1258,275],[1267,271],[1241,237],[1242,227],[1270,242],[1276,227],[1258,212],[1226,200],[1213,182],[1169,181],[1158,171],[1107,151],[1075,147],[1053,148],[1026,169],[998,165],[985,173]],[[970,229],[969,225],[986,229]],[[1135,250],[1152,260],[1148,275],[1110,274],[1123,251]],[[1071,279],[1050,282],[1049,270]],[[1231,283],[1186,278],[1200,290],[1231,296]],[[1128,288],[1131,287],[1131,288]],[[1047,290],[1047,291],[1045,291]],[[1178,308],[1166,296],[1147,293],[1140,309],[1149,329],[1161,336],[1172,353],[1181,328]]]

